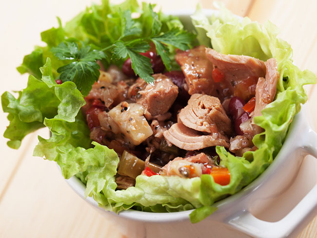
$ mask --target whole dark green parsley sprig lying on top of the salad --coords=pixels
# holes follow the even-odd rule
[[[161,57],[166,69],[170,71],[169,46],[187,50],[195,39],[195,35],[178,28],[162,31],[162,22],[159,20],[158,14],[153,11],[153,5],[149,4],[148,8],[152,17],[152,24],[151,32],[147,36],[142,36],[141,25],[131,17],[131,10],[121,11],[119,9],[120,36],[107,47],[92,50],[89,45],[81,42],[81,48],[79,49],[76,42],[70,41],[62,42],[57,47],[53,47],[51,51],[58,59],[71,60],[70,63],[59,67],[60,79],[75,82],[78,89],[85,96],[89,93],[92,84],[99,78],[97,59],[116,62],[117,60],[131,58],[131,66],[135,74],[146,82],[153,82],[151,61],[149,58],[140,55],[140,53],[150,49],[150,42],[153,42],[157,54]]]

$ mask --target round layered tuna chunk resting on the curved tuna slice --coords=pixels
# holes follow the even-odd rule
[[[179,120],[197,131],[232,134],[231,120],[216,97],[193,94],[188,105],[180,110]]]

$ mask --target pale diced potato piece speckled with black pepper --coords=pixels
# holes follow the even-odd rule
[[[142,105],[123,101],[108,114],[118,124],[122,139],[133,145],[139,145],[153,134],[143,116],[144,112],[145,108]]]

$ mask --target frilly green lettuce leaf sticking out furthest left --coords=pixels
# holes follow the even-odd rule
[[[9,113],[10,120],[4,137],[10,139],[8,146],[11,148],[19,148],[27,134],[44,127],[44,118],[75,121],[80,107],[85,104],[75,83],[55,82],[49,58],[40,70],[42,79],[31,75],[27,87],[19,92],[18,99],[9,92],[1,96],[2,109]]]

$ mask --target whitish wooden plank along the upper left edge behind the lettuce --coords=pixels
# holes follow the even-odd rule
[[[61,5],[63,7],[60,7]],[[28,76],[21,76],[16,67],[21,64],[24,55],[32,52],[34,45],[42,44],[40,32],[57,26],[56,16],[63,16],[63,22],[65,22],[75,16],[79,8],[84,9],[86,5],[85,0],[66,2],[33,0],[32,3],[14,0],[0,8],[0,29],[3,32],[0,57],[1,95],[4,91],[12,92],[26,87]],[[0,199],[1,194],[9,185],[10,178],[24,158],[25,150],[29,149],[28,140],[36,137],[36,135],[27,136],[18,151],[10,149],[6,145],[8,139],[2,137],[9,124],[6,117],[7,113],[0,114]]]

